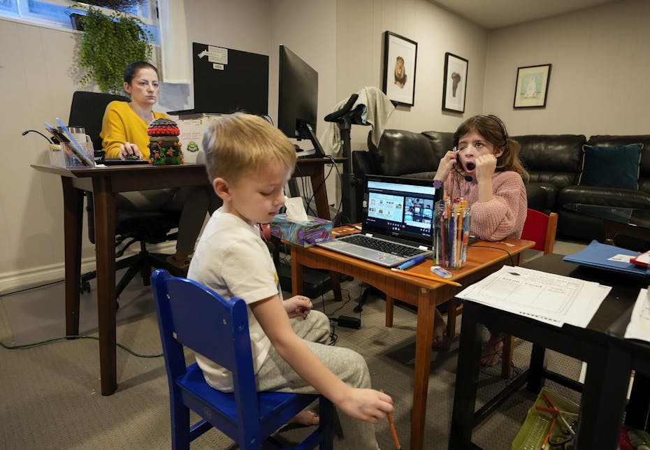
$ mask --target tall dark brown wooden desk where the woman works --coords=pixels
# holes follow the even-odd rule
[[[340,162],[335,160],[335,162]],[[324,165],[329,159],[300,159],[294,176],[310,176],[317,212],[329,218]],[[59,168],[33,164],[39,172],[59,175],[63,186],[66,276],[66,335],[79,334],[79,291],[83,193],[92,191],[95,215],[97,309],[99,316],[99,371],[101,395],[117,389],[115,354],[115,194],[208,183],[203,164],[182,166],[108,166]]]

